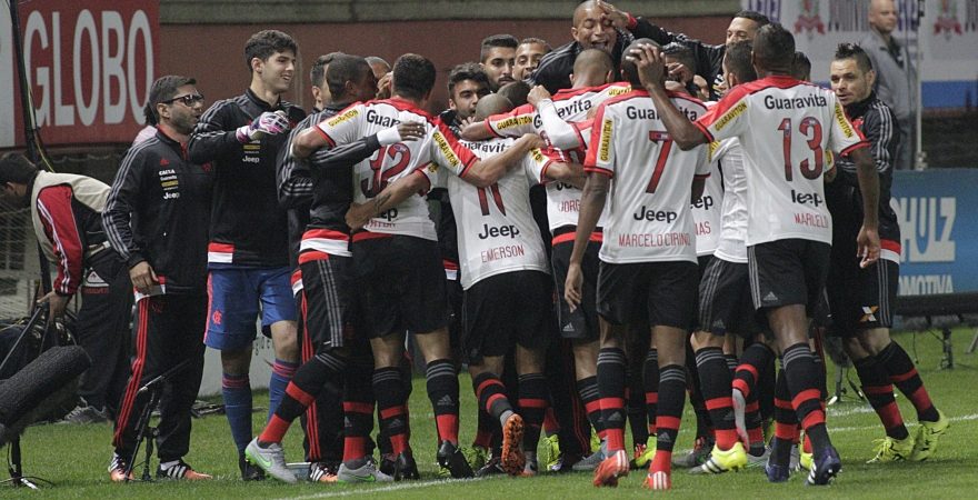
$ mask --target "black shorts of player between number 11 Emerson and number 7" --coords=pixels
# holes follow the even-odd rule
[[[600,337],[598,326],[597,288],[598,269],[601,261],[598,252],[601,243],[588,242],[585,258],[581,260],[581,271],[585,282],[581,286],[581,303],[570,311],[570,306],[563,300],[563,284],[567,281],[567,269],[570,267],[570,253],[573,251],[573,241],[565,241],[553,246],[550,253],[550,266],[553,269],[553,282],[557,284],[557,321],[560,336],[565,339],[597,340]]]

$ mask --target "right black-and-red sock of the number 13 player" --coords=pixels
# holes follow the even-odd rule
[[[824,378],[824,372],[814,358],[808,342],[799,342],[785,349],[784,364],[788,389],[791,391],[791,406],[798,413],[805,434],[811,439],[811,444],[816,450],[822,450],[831,446],[831,441],[825,426],[825,410],[819,390],[818,379]]]

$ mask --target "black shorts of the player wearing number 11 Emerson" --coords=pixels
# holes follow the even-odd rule
[[[515,344],[542,350],[551,333],[550,277],[512,271],[480,280],[462,299],[462,346],[467,361],[506,356]]]

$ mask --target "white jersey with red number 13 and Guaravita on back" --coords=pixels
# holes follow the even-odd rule
[[[868,146],[831,91],[768,77],[734,88],[697,126],[710,141],[740,138],[748,247],[792,238],[831,244],[826,157]]]

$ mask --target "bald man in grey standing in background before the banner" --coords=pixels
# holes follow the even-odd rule
[[[908,170],[915,164],[914,144],[915,116],[917,109],[917,72],[910,64],[910,54],[892,36],[897,29],[899,12],[894,0],[872,0],[869,2],[869,33],[859,41],[859,47],[872,61],[876,83],[872,89],[897,117],[900,128],[900,149],[894,160],[894,168]]]

